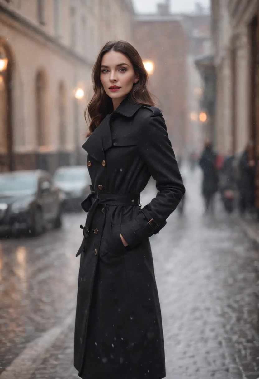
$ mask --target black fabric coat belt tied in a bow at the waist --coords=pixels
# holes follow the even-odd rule
[[[139,193],[100,193],[96,194],[92,191],[86,199],[81,203],[81,207],[88,212],[86,224],[80,228],[83,229],[84,238],[89,236],[89,230],[92,224],[95,209],[98,205],[115,205],[117,207],[130,207],[140,205]]]

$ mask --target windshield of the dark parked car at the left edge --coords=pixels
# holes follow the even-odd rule
[[[37,190],[37,178],[32,174],[0,175],[1,193],[33,193]]]

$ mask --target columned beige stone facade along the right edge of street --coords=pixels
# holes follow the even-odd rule
[[[217,149],[259,155],[259,1],[212,0]]]

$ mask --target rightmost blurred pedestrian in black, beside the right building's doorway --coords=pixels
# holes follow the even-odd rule
[[[239,210],[242,215],[254,210],[255,174],[254,143],[250,141],[239,160]]]

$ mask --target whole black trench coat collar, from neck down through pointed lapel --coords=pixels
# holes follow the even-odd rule
[[[142,104],[133,102],[133,100],[131,100],[131,94],[129,94],[112,114],[107,114],[103,121],[101,121],[100,125],[83,144],[83,149],[97,161],[102,162],[105,160],[105,151],[112,147],[111,119],[117,114],[121,114],[125,117],[133,117],[142,106]]]

